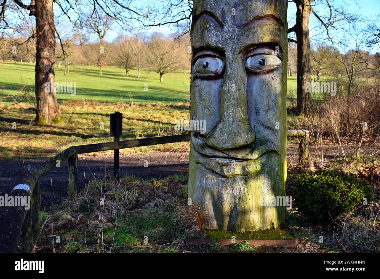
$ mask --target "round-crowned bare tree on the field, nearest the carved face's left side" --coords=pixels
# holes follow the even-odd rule
[[[177,44],[172,38],[161,33],[153,33],[149,38],[146,64],[151,71],[163,75],[173,72],[180,66],[180,55]]]

